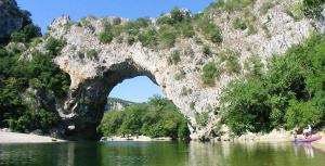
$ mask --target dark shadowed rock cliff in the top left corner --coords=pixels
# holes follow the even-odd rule
[[[24,18],[15,0],[0,0],[0,43],[23,27]]]

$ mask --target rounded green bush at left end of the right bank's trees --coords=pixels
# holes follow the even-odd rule
[[[236,135],[270,130],[270,107],[264,104],[268,92],[261,81],[233,82],[223,91],[221,116]]]

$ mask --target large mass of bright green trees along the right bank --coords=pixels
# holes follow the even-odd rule
[[[315,35],[273,58],[265,74],[232,82],[221,98],[223,120],[235,133],[324,125],[324,46],[325,35]]]

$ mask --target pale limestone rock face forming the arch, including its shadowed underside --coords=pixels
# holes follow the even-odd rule
[[[245,71],[236,75],[222,74],[214,87],[206,87],[200,79],[204,64],[218,60],[229,49],[240,54],[242,65],[253,54],[265,62],[272,54],[282,54],[292,44],[303,41],[313,30],[324,29],[317,21],[296,21],[288,15],[284,9],[296,2],[280,1],[262,13],[260,8],[263,1],[258,0],[253,7],[248,8],[256,15],[257,31],[251,35],[248,35],[248,29],[237,30],[233,27],[233,21],[243,17],[243,11],[214,12],[210,17],[221,27],[221,44],[213,44],[197,33],[194,38],[178,38],[170,49],[150,49],[140,42],[129,46],[117,39],[109,44],[101,43],[98,35],[103,30],[102,23],[112,22],[112,18],[87,17],[88,26],[74,24],[68,16],[56,18],[49,35],[65,39],[67,44],[54,62],[69,74],[72,80],[68,97],[57,108],[63,125],[66,128],[75,127],[69,133],[73,137],[95,139],[95,128],[103,116],[109,91],[123,79],[147,76],[161,87],[167,98],[187,117],[192,139],[213,137],[212,131],[219,120],[221,90],[232,79],[240,78]],[[126,35],[121,36],[126,38]],[[204,46],[210,46],[211,56],[204,55]],[[90,56],[87,53],[90,50],[95,50],[95,55]],[[177,65],[167,61],[174,51],[181,54]],[[179,73],[183,73],[181,79],[176,78]],[[191,89],[191,93],[184,94],[184,88]],[[204,112],[209,115],[207,125],[199,126],[196,116]]]

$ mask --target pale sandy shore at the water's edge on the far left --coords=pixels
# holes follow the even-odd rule
[[[0,131],[0,143],[43,143],[43,142],[64,142],[64,140],[60,140],[47,136]]]

